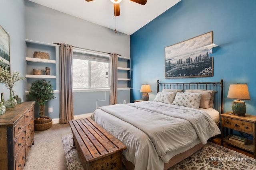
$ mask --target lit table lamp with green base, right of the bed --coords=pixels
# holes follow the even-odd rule
[[[234,115],[244,116],[246,105],[242,100],[250,100],[247,84],[230,84],[227,98],[237,99],[232,102],[233,113]]]

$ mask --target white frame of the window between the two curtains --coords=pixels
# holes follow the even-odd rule
[[[86,55],[92,55],[95,57],[102,57],[102,59],[108,58],[108,60],[109,60],[109,54],[98,52],[98,51],[92,51],[92,50],[73,47],[73,54],[74,53],[81,53],[81,54],[86,54]],[[73,56],[73,58],[76,58],[76,57]],[[109,72],[109,70],[108,70],[108,72]],[[109,81],[109,79],[108,79],[108,81]],[[110,87],[108,87],[108,88],[73,88],[73,92],[99,92],[99,91],[110,91]]]

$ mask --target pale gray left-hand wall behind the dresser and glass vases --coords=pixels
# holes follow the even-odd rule
[[[0,25],[10,36],[10,69],[11,72],[19,72],[25,76],[25,25],[24,25],[24,1],[1,0]],[[13,90],[24,101],[25,80],[16,82]],[[0,83],[0,92],[4,92],[4,100],[9,99],[10,91]]]

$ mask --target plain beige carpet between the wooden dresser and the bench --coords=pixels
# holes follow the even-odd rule
[[[53,124],[46,131],[35,131],[24,170],[67,170],[61,137],[70,133],[69,124]]]

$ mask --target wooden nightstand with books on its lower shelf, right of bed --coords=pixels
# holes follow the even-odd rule
[[[221,114],[221,145],[226,142],[230,145],[239,147],[241,149],[253,152],[254,158],[256,158],[256,115],[246,114],[245,116],[237,116],[234,114],[223,113]],[[224,138],[224,127],[226,129],[226,137]],[[228,135],[228,128],[230,129],[230,135]],[[251,134],[253,140],[248,140],[246,145],[230,141],[229,137],[233,133],[233,129],[244,133]]]

